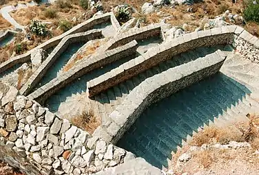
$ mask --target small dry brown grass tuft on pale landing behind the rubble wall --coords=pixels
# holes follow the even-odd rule
[[[92,134],[100,126],[101,121],[94,116],[92,110],[89,110],[88,113],[83,112],[81,115],[73,117],[72,124]]]

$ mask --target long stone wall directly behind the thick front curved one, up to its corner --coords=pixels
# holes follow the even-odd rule
[[[166,43],[149,49],[149,51],[142,56],[138,56],[137,58],[134,58],[134,60],[125,62],[120,67],[117,67],[94,80],[90,80],[87,86],[90,97],[101,93],[120,82],[124,82],[142,71],[158,65],[160,62],[169,60],[172,56],[195,49],[196,47],[229,44],[234,41],[233,32],[230,32],[228,27],[221,27],[215,29],[213,32],[214,35],[211,34],[211,30],[191,32],[184,36],[174,38],[171,41],[167,41]]]

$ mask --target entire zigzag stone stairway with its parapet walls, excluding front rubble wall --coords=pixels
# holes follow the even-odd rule
[[[92,110],[101,120],[94,138],[159,169],[201,128],[258,113],[259,39],[242,27],[178,38],[165,38],[160,23],[119,29],[112,13],[103,14],[43,43],[36,49],[54,49],[20,93],[70,121]],[[93,40],[103,43],[81,55]],[[0,72],[12,74],[30,54],[4,62]]]

